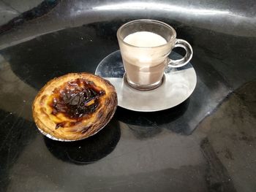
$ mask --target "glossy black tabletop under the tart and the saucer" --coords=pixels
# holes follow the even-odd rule
[[[85,3],[61,1],[48,17],[70,9],[72,18],[74,4]],[[167,13],[104,11],[109,18],[95,14],[80,26],[2,44],[0,191],[255,191],[255,34],[237,31],[234,23],[233,30],[214,30],[205,20],[198,26]],[[62,74],[94,73],[118,50],[118,27],[141,17],[170,24],[192,45],[197,85],[189,99],[159,112],[118,107],[108,126],[78,142],[40,134],[31,114],[39,89]],[[36,28],[33,22],[44,19],[49,22],[24,25]],[[13,30],[0,42],[8,37],[11,45],[10,34],[29,28]]]

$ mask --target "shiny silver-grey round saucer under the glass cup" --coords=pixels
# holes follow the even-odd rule
[[[181,58],[172,52],[171,58]],[[151,91],[138,91],[123,80],[124,65],[120,51],[105,57],[95,74],[109,80],[116,88],[118,106],[140,112],[154,112],[175,107],[185,101],[194,91],[197,83],[195,69],[189,63],[180,68],[167,68],[165,79],[159,88]]]

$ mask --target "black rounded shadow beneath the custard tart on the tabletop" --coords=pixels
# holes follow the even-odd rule
[[[121,137],[117,120],[110,120],[105,128],[92,137],[76,142],[59,142],[44,137],[50,153],[61,161],[70,164],[92,164],[110,154]]]

